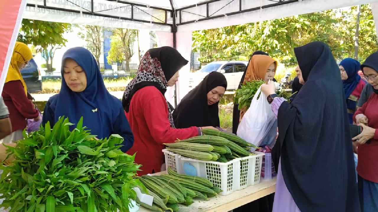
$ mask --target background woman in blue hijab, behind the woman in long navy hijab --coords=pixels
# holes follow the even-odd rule
[[[353,124],[353,114],[366,84],[366,81],[362,80],[358,75],[358,71],[361,69],[360,66],[361,64],[353,58],[345,58],[339,65],[350,124]]]

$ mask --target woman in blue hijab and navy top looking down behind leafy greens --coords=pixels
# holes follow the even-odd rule
[[[61,116],[68,117],[75,128],[83,117],[83,126],[97,138],[112,134],[121,135],[122,152],[132,147],[134,137],[122,103],[109,94],[102,80],[95,57],[85,48],[68,49],[62,58],[62,87],[45,106],[42,124],[50,121],[53,126]]]

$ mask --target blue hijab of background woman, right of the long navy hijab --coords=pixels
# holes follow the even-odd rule
[[[361,69],[361,64],[353,58],[345,58],[341,61],[340,66],[344,67],[347,72],[347,80],[342,80],[342,85],[344,87],[345,99],[347,103],[347,108],[353,111],[356,110],[357,102],[350,100],[349,96],[357,87],[361,77],[358,75],[358,71]],[[353,114],[348,114],[349,123],[353,124]]]

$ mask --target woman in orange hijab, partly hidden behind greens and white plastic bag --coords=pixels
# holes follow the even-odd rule
[[[277,61],[273,58],[268,55],[254,55],[251,60],[249,60],[243,84],[251,80],[264,80],[268,83],[269,80],[273,80],[276,69]],[[246,111],[246,108],[240,110],[239,122],[242,120]]]

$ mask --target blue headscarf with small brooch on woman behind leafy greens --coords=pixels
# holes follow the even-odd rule
[[[82,92],[73,92],[64,80],[63,66],[66,59],[72,59],[81,66],[87,75],[87,88]],[[109,94],[102,80],[100,69],[95,57],[85,48],[68,49],[62,58],[62,87],[53,98],[50,107],[54,113],[56,123],[60,116],[70,119],[74,125],[81,117],[83,126],[91,130],[91,134],[98,138],[109,137],[113,132],[113,123],[122,109],[121,101]]]

